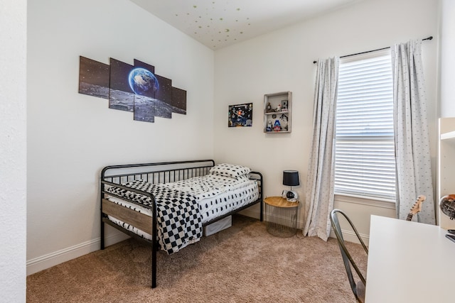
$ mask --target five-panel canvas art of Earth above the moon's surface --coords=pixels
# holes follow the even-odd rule
[[[155,67],[134,59],[134,65],[109,59],[109,65],[80,56],[79,93],[109,99],[109,108],[133,112],[135,121],[186,114],[186,91],[156,75]]]

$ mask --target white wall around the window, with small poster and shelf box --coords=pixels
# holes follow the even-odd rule
[[[437,155],[438,5],[434,0],[368,0],[244,43],[215,51],[215,158],[263,172],[265,195],[284,189],[282,170],[299,170],[304,197],[309,163],[316,65],[319,57],[374,50],[410,39],[423,43],[432,160]],[[292,133],[264,134],[263,95],[293,92]],[[228,105],[253,102],[253,126],[228,128]],[[436,174],[434,174],[436,175]],[[413,198],[412,198],[413,199]],[[337,203],[368,236],[370,214],[395,216],[393,208]],[[303,226],[303,207],[299,226]]]

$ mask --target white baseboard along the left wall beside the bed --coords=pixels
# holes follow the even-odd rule
[[[124,241],[127,238],[129,238],[129,236],[127,236],[125,233],[116,232],[111,236],[106,237],[105,245],[111,246],[112,244]],[[57,250],[53,253],[48,253],[47,255],[41,255],[41,257],[38,258],[27,260],[27,275],[31,275],[35,272],[51,268],[60,263],[73,260],[99,249],[100,238],[96,238],[84,243],[77,244],[75,246]]]

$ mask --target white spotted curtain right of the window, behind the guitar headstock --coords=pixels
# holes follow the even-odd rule
[[[422,40],[394,45],[391,50],[397,218],[406,219],[417,196],[424,194],[427,199],[413,220],[435,224],[427,100],[421,60]]]

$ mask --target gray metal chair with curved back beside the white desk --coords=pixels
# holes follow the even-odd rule
[[[332,224],[333,231],[335,232],[336,239],[338,240],[338,246],[340,246],[341,250],[341,256],[343,257],[343,263],[344,267],[346,268],[346,273],[348,274],[348,280],[350,284],[351,290],[353,290],[353,293],[355,295],[355,299],[357,299],[358,302],[365,302],[365,285],[366,285],[366,280],[363,275],[363,273],[360,271],[358,268],[358,265],[355,264],[355,261],[353,260],[352,256],[350,255],[348,248],[346,248],[346,245],[344,243],[343,239],[343,233],[341,231],[340,227],[340,222],[338,221],[338,214],[341,214],[342,216],[345,217],[346,221],[350,224],[351,228],[353,229],[355,235],[358,238],[358,241],[360,241],[360,244],[363,246],[365,249],[365,253],[368,255],[368,248],[365,246],[365,243],[363,243],[362,238],[360,238],[360,235],[355,228],[354,224],[352,221],[350,221],[349,217],[340,209],[333,209],[330,214],[330,221]],[[353,277],[353,270],[351,269],[354,268],[355,272],[357,273],[358,277],[360,278],[360,281],[355,282],[355,279]]]

